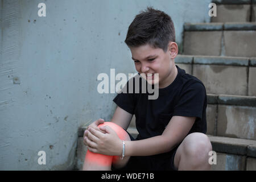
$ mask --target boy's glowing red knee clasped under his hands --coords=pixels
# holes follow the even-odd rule
[[[98,125],[98,127],[107,126],[107,125],[110,126],[117,133],[118,137],[121,140],[125,140],[127,135],[126,131],[123,130],[122,127],[118,126],[113,122],[104,122]],[[113,159],[116,160],[116,157],[114,158],[114,156],[111,156],[111,155],[96,154],[89,150],[87,150],[86,156],[85,156],[86,161],[90,163],[96,163],[101,166],[111,166]]]

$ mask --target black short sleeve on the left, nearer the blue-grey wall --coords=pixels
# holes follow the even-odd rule
[[[129,82],[129,81],[128,81]],[[130,114],[135,113],[135,94],[129,93],[129,84],[126,84],[126,86],[122,89],[121,93],[118,93],[117,96],[113,99],[115,104],[117,104],[119,107],[121,107],[123,110],[127,111]],[[126,90],[126,92],[123,92]]]

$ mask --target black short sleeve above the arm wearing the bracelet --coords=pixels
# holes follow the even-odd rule
[[[202,119],[206,91],[203,84],[194,82],[186,86],[174,107],[174,115],[198,117]]]

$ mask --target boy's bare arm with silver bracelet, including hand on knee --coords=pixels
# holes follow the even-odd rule
[[[171,151],[180,143],[195,123],[196,117],[174,116],[162,135],[143,140],[125,141],[125,156],[148,156]],[[111,127],[102,127],[101,131],[88,129],[88,148],[90,151],[105,155],[121,155],[122,140]]]

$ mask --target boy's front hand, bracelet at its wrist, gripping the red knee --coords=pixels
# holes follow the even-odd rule
[[[122,155],[123,142],[119,139],[117,133],[109,126],[100,127],[100,130],[88,129],[88,138],[86,138],[88,150],[104,155]],[[102,131],[105,133],[102,133]]]

